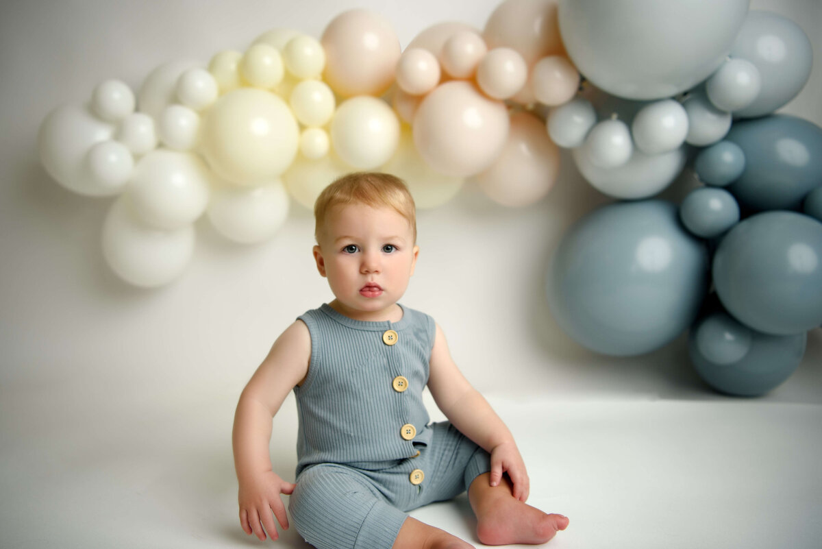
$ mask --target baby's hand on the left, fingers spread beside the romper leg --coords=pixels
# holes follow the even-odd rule
[[[279,495],[290,494],[295,487],[296,484],[285,482],[272,471],[241,481],[238,499],[243,531],[248,535],[256,534],[261,541],[266,539],[266,531],[271,539],[277,539],[279,534],[274,517],[283,529],[289,528],[289,517]],[[263,527],[266,529],[263,530]]]

